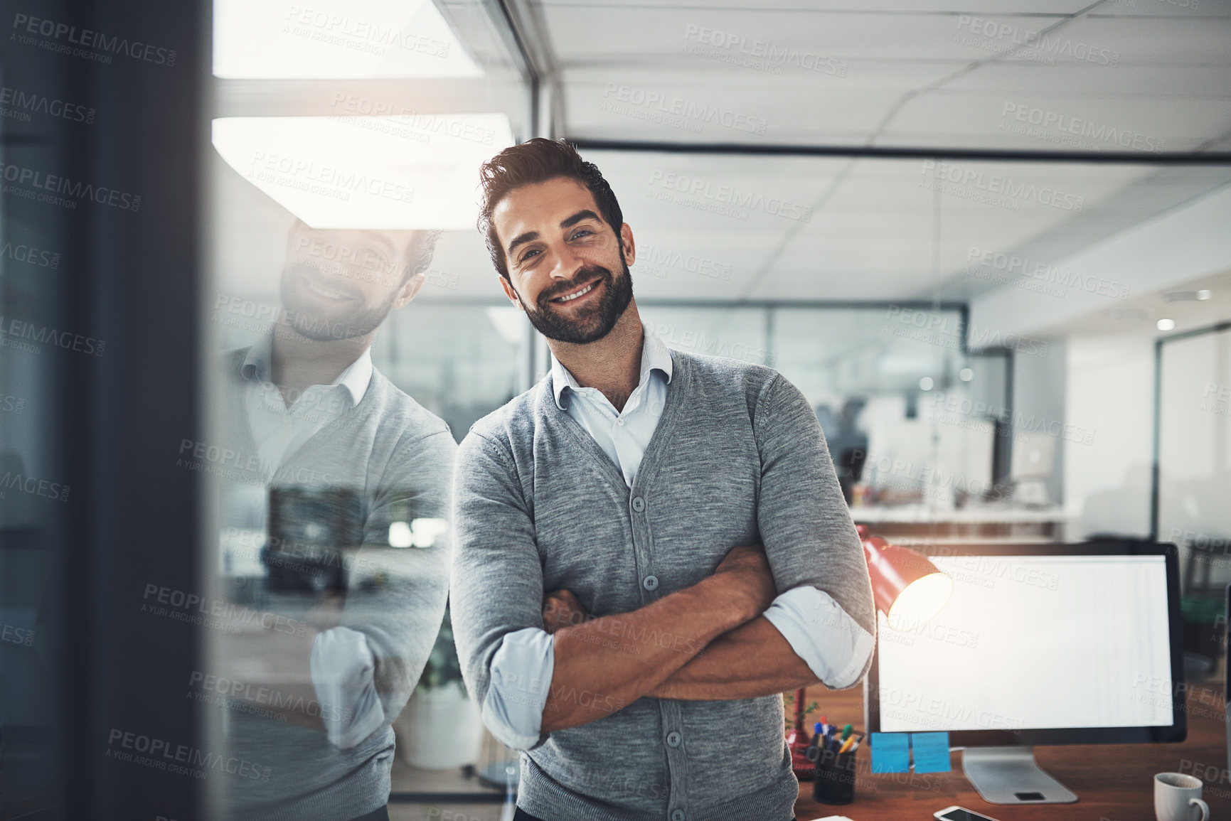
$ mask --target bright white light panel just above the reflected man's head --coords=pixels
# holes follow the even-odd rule
[[[474,230],[479,165],[513,144],[508,117],[228,117],[214,148],[311,228]]]

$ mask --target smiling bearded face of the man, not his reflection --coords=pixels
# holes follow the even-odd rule
[[[593,194],[566,177],[515,188],[491,222],[508,266],[505,294],[543,336],[583,345],[611,332],[633,300],[627,224],[617,236]]]

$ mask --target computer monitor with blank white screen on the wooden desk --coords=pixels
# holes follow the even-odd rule
[[[878,613],[869,732],[948,731],[992,804],[1077,800],[1034,763],[1037,745],[1184,740],[1176,545],[917,549],[953,595],[908,631]]]

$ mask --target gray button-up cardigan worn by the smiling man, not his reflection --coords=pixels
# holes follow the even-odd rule
[[[779,593],[812,585],[875,634],[863,550],[803,394],[769,368],[671,356],[632,489],[556,407],[550,375],[463,441],[451,607],[480,704],[505,634],[543,627],[544,592],[628,613],[709,576],[741,544],[766,547]],[[787,821],[796,796],[780,697],[646,697],[523,753],[518,805],[547,821]]]

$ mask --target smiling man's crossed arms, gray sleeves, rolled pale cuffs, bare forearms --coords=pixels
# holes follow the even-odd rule
[[[875,633],[872,586],[816,415],[776,377],[752,421],[761,545],[730,550],[691,587],[602,618],[571,591],[544,588],[547,518],[535,512],[545,506],[553,527],[576,528],[591,505],[534,481],[534,439],[523,431],[471,431],[462,443],[454,639],[467,686],[489,727],[506,729],[505,743],[533,748],[646,695],[746,699],[862,677]],[[535,505],[533,490],[565,496]]]

